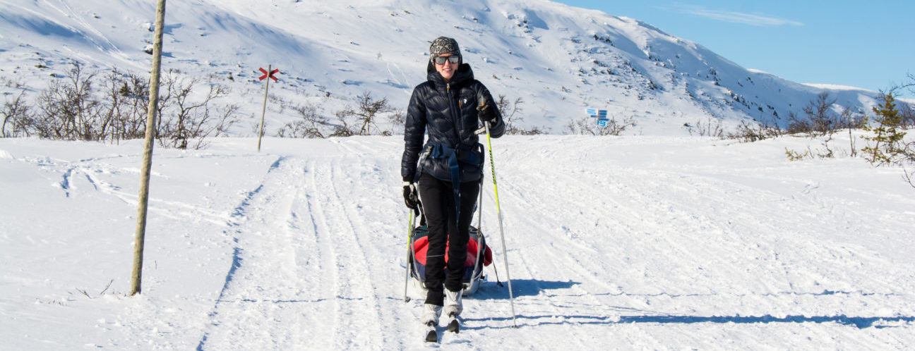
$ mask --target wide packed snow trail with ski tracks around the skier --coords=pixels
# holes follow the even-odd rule
[[[265,177],[237,230],[241,264],[227,279],[200,348],[221,349],[258,337],[263,343],[254,345],[270,348],[416,346],[422,296],[412,290],[414,301],[401,303],[395,283],[401,271],[392,270],[403,267],[397,249],[402,240],[396,239],[404,231],[397,220],[402,218],[362,205],[368,198],[384,199],[380,207],[403,212],[391,190],[396,186],[390,186],[397,183],[400,146],[383,144],[393,155],[384,160],[377,145],[359,140],[334,145],[336,152],[307,162],[282,158]],[[849,220],[852,214],[845,209],[823,211],[822,199],[805,196],[815,190],[813,182],[777,175],[766,179],[790,186],[801,182],[802,191],[791,201],[739,177],[746,175],[735,180],[702,167],[617,166],[573,152],[540,154],[539,166],[532,168],[511,162],[521,160],[521,153],[497,150],[497,157],[497,165],[503,165],[503,197],[511,198],[504,211],[510,234],[515,233],[509,250],[522,326],[514,333],[525,335],[516,342],[520,348],[549,345],[554,335],[584,349],[608,338],[638,347],[713,346],[690,336],[693,324],[713,329],[722,323],[751,329],[785,324],[775,328],[784,331],[756,336],[769,345],[798,342],[792,339],[810,333],[808,324],[858,329],[910,322],[910,317],[894,319],[867,307],[904,300],[907,293],[895,285],[899,281],[862,272],[904,273],[864,248],[830,239],[834,226],[861,232],[875,223]],[[759,169],[746,171],[767,177]],[[487,194],[484,211],[493,212]],[[585,206],[569,206],[583,200]],[[490,243],[497,243],[493,213],[484,215]],[[485,348],[481,345],[494,345],[486,339],[511,334],[505,294],[505,288],[489,283],[469,297],[467,332],[444,334],[441,342]],[[297,304],[307,304],[307,310]],[[663,325],[673,333],[645,338],[594,329],[632,323]],[[301,333],[283,335],[296,330]],[[854,332],[835,342],[884,346],[858,340]]]

